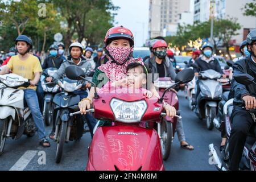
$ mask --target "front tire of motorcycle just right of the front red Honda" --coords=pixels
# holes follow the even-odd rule
[[[172,145],[172,123],[163,119],[161,123],[161,150],[163,160],[167,160],[171,153]]]

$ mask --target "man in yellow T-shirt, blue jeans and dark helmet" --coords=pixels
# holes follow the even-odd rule
[[[39,109],[38,96],[36,95],[36,84],[40,80],[42,67],[37,57],[31,55],[32,41],[26,35],[20,35],[15,40],[18,55],[12,56],[9,63],[0,71],[0,75],[5,75],[10,70],[16,75],[22,76],[30,80],[30,86],[27,88],[19,88],[24,90],[24,100],[31,110],[33,120],[38,129],[38,137],[43,147],[49,147],[50,143],[46,139],[46,131],[44,129],[44,121],[42,113]]]

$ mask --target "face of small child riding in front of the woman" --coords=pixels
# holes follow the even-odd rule
[[[127,86],[135,89],[142,88],[142,85],[146,84],[146,75],[143,73],[143,68],[135,67],[128,70],[126,79]]]

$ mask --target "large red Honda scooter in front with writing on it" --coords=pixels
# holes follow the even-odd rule
[[[178,73],[176,83],[165,89],[160,99],[145,98],[140,92],[127,93],[127,88],[118,89],[116,93],[96,92],[94,109],[88,111],[93,112],[96,119],[112,122],[112,126],[96,129],[89,146],[86,171],[164,170],[159,125],[156,131],[154,127],[144,128],[139,124],[160,122],[166,116],[162,113],[166,92],[191,81],[193,74],[191,69]],[[66,75],[72,80],[85,79],[84,72],[78,67],[68,67]],[[74,114],[80,114],[80,111],[71,115]]]

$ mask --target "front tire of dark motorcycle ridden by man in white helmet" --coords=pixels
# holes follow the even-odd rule
[[[63,147],[66,139],[67,127],[68,127],[68,122],[61,121],[59,134],[57,137],[57,150],[56,150],[56,157],[55,157],[56,163],[60,163],[61,156],[63,154]]]

